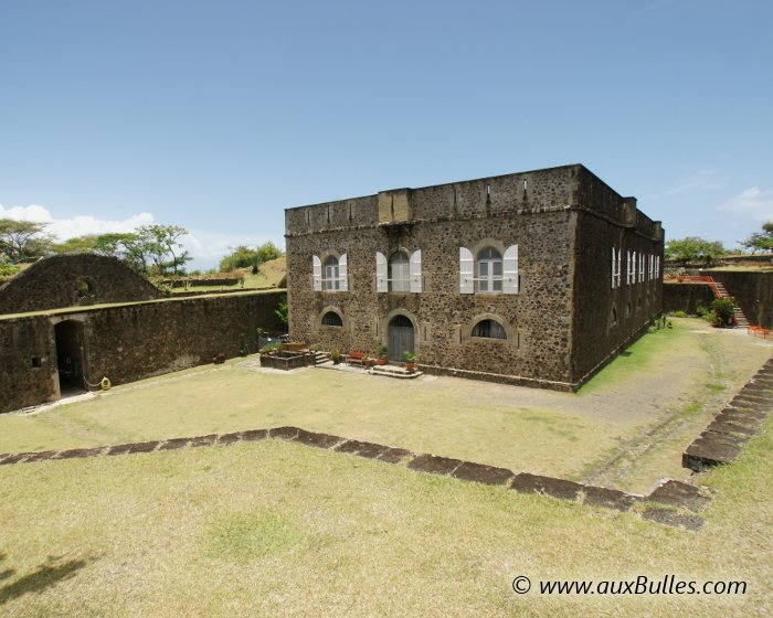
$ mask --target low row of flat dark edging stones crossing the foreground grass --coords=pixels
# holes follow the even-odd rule
[[[230,434],[209,434],[191,438],[128,443],[96,448],[6,454],[0,455],[0,466],[98,457],[102,455],[113,456],[152,452],[156,450],[178,450],[187,447],[230,446],[240,441],[258,441],[266,438],[297,441],[310,447],[356,455],[386,464],[402,464],[406,461],[407,468],[417,472],[448,476],[458,480],[489,486],[506,486],[507,489],[521,493],[550,496],[575,503],[617,511],[629,511],[635,504],[642,502],[645,504],[644,510],[640,512],[643,519],[688,530],[698,530],[703,525],[703,520],[695,513],[699,512],[710,500],[698,488],[674,480],[659,484],[649,496],[644,497],[625,493],[616,489],[586,486],[529,472],[516,473],[507,468],[498,468],[474,461],[464,461],[431,454],[416,455],[405,448],[348,439],[341,436],[308,431],[299,427],[288,426],[233,431]]]

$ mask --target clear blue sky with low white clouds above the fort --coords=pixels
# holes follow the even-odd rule
[[[773,2],[0,2],[0,216],[183,225],[581,162],[727,245],[773,220]]]

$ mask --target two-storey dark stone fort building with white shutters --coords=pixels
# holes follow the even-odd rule
[[[664,231],[581,164],[285,211],[289,332],[574,391],[663,306]]]

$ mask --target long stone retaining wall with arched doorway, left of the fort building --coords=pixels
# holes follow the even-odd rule
[[[274,310],[284,290],[138,302],[0,318],[0,412],[56,399],[55,324],[81,322],[84,375],[124,384],[236,356],[256,329],[282,330]]]

